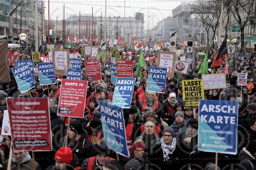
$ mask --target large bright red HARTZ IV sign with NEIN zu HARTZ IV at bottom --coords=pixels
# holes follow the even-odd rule
[[[84,117],[87,81],[62,79],[59,95],[59,116]]]

